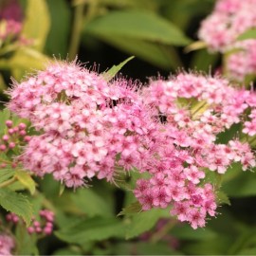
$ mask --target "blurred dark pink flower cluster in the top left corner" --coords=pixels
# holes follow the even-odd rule
[[[5,41],[17,37],[22,30],[21,21],[22,10],[18,1],[6,1],[0,9],[0,40]]]

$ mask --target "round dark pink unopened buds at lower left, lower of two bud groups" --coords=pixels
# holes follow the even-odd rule
[[[17,225],[20,218],[15,213],[8,213],[6,219],[9,223]],[[27,228],[29,234],[43,234],[50,235],[53,231],[54,213],[50,210],[40,210],[39,220],[35,217],[32,218],[30,226]]]

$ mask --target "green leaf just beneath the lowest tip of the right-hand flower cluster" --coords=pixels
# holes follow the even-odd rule
[[[152,209],[135,213],[128,221],[131,221],[126,229],[126,239],[136,237],[137,235],[152,229],[159,218],[170,217],[168,210]]]

